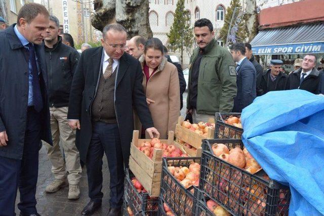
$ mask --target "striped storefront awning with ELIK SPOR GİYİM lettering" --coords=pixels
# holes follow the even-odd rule
[[[324,53],[324,23],[262,30],[251,46],[254,55]]]

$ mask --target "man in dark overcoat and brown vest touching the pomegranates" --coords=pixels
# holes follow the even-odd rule
[[[80,159],[87,164],[90,202],[83,215],[101,206],[102,157],[110,172],[110,209],[120,215],[124,195],[124,166],[128,167],[133,132],[133,105],[143,127],[153,138],[159,133],[146,103],[139,61],[126,49],[126,29],[109,24],[103,29],[102,47],[86,50],[73,76],[68,119],[76,132]],[[73,120],[74,119],[74,120]]]

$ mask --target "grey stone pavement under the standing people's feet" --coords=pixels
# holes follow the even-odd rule
[[[187,93],[183,94],[184,108],[181,110],[181,115],[185,116]],[[62,149],[62,148],[61,148]],[[51,172],[51,162],[47,157],[46,147],[43,145],[42,149],[39,151],[39,166],[38,166],[38,181],[36,190],[36,200],[37,200],[37,211],[42,216],[71,216],[71,215],[81,215],[81,211],[90,201],[88,197],[88,180],[87,180],[87,170],[84,166],[82,170],[82,178],[80,179],[80,198],[77,200],[69,200],[68,187],[62,188],[56,193],[46,193],[45,188],[53,180],[54,176]],[[107,158],[103,157],[103,188],[102,192],[104,194],[102,199],[102,206],[93,215],[105,215],[109,209],[109,170],[107,164]],[[19,215],[20,211],[17,207],[19,203],[19,192],[16,199],[16,214]]]

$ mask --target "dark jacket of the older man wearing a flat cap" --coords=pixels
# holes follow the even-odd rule
[[[280,72],[277,78],[272,82],[270,77],[271,69],[266,70],[261,77],[261,84],[257,96],[261,96],[271,91],[286,90],[288,75]]]

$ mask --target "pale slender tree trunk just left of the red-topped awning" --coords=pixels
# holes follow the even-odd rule
[[[246,1],[246,23],[247,31],[249,34],[249,41],[251,41],[258,33],[258,14],[256,11],[257,3],[256,0],[247,0]]]

